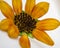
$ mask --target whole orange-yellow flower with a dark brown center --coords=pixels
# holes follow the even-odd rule
[[[48,12],[48,2],[35,4],[35,0],[26,0],[25,11],[22,11],[22,0],[12,0],[12,5],[13,9],[5,1],[0,1],[0,10],[6,17],[0,22],[0,30],[7,32],[10,38],[21,36],[19,44],[22,48],[30,48],[28,36],[47,45],[54,45],[45,31],[56,29],[59,21],[53,18],[38,20]]]

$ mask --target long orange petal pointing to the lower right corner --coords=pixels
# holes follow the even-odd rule
[[[32,34],[37,40],[39,40],[47,45],[50,45],[50,46],[54,45],[54,42],[52,41],[52,39],[44,31],[34,29]]]

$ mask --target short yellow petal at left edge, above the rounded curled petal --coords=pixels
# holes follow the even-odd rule
[[[11,26],[11,22],[9,19],[4,19],[0,22],[0,30],[7,31]]]

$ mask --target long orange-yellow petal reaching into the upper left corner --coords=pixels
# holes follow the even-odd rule
[[[9,6],[5,1],[0,1],[0,8],[5,17],[12,18],[14,16],[11,6]]]

